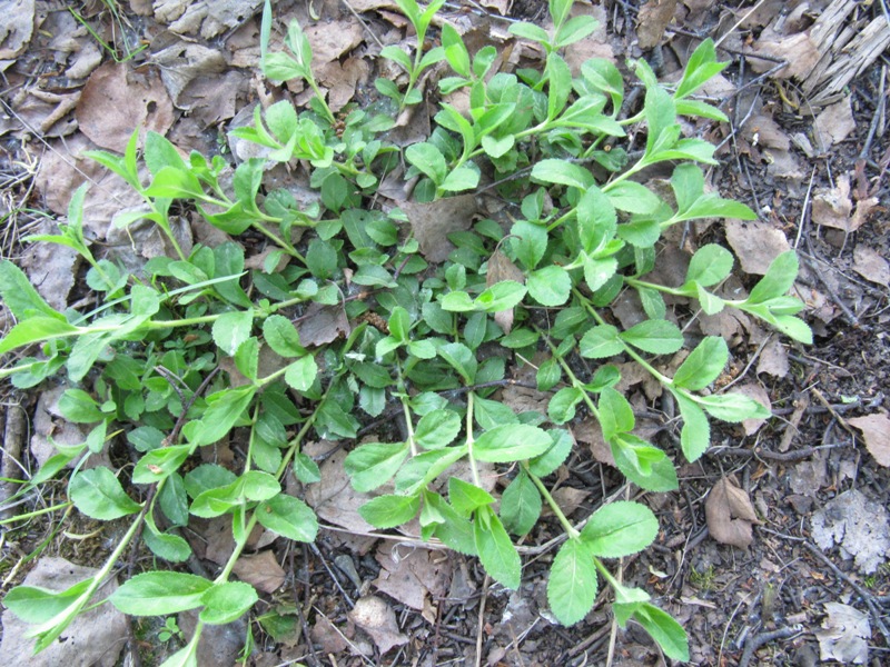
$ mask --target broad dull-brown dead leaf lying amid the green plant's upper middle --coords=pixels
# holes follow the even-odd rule
[[[473,216],[478,210],[473,195],[459,195],[417,203],[399,201],[400,208],[408,217],[414,238],[421,246],[421,255],[431,263],[441,263],[448,259],[454,246],[448,241],[453,231],[464,231],[473,225]]]

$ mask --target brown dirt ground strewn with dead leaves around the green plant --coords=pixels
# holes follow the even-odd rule
[[[276,26],[298,17],[315,31],[320,81],[333,106],[373,102],[373,81],[382,73],[378,42],[405,38],[392,2],[274,6]],[[108,220],[131,203],[116,185],[102,186],[101,170],[80,157],[83,150],[120,151],[144,125],[185,151],[234,160],[227,132],[248,104],[307,99],[303,90],[274,89],[258,77],[257,1],[7,0],[0,11],[16,17],[0,28],[0,242],[4,258],[55,295],[53,305],[88,302],[85,269],[73,260],[66,269],[21,238],[63,216],[85,180],[97,185],[89,210],[99,246],[119,242],[106,236]],[[711,449],[680,469],[680,491],[645,496],[661,532],[651,549],[620,565],[623,579],[654,591],[685,627],[693,665],[890,665],[887,2],[605,0],[576,11],[592,13],[602,27],[574,58],[646,58],[665,81],[702,39],[718,41],[719,57],[731,64],[705,93],[723,103],[730,122],[686,130],[720,145],[721,167],[709,172],[709,183],[760,219],[696,225],[686,233],[732,248],[741,270],[731,280],[740,287],[794,248],[801,260],[795,290],[815,335],[812,346],[802,346],[744,318],[702,318],[703,331],[730,342],[731,368],[721,381],[768,402],[774,417],[714,425]],[[463,0],[446,4],[443,14],[465,32],[471,51],[494,43],[503,52],[513,48],[511,20],[546,19],[540,0]],[[514,48],[515,60],[504,67],[515,67],[521,51]],[[135,94],[141,96],[137,102]],[[406,128],[406,142],[422,126]],[[684,239],[668,241],[679,247]],[[665,247],[668,259],[671,251]],[[11,326],[9,318],[3,322]],[[0,386],[3,477],[36,470],[41,459],[31,448],[41,434],[46,441],[62,428],[38,405],[52,389]],[[642,386],[635,391],[635,406],[652,416],[654,441],[673,447],[672,406],[649,398]],[[585,416],[572,427],[580,446],[560,474],[560,498],[578,520],[604,498],[631,491],[597,458],[602,444]],[[50,506],[65,486],[49,486],[47,494],[0,511],[8,519]],[[571,628],[552,620],[544,575],[554,555],[546,545],[561,532],[553,518],[521,545],[523,585],[508,591],[492,586],[473,559],[397,536],[359,535],[316,511],[325,528],[315,545],[265,551],[284,580],[264,597],[264,608],[290,609],[291,625],[255,624],[249,665],[670,663],[639,627],[615,628],[602,596]],[[2,529],[4,593],[34,566],[28,555],[36,550],[90,566],[113,547],[107,527],[76,512]],[[190,567],[216,567],[210,555],[198,560]],[[356,621],[357,606],[374,618],[372,629]],[[178,623],[187,635],[195,620]],[[162,629],[134,621],[119,657],[101,664],[160,664],[178,646],[175,633],[157,639]],[[235,664],[245,630],[246,621],[216,627],[204,664]],[[16,664],[31,664],[26,660],[16,656]]]

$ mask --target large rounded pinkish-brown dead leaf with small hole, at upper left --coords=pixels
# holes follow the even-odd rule
[[[166,135],[174,122],[174,108],[160,80],[135,74],[122,62],[108,62],[90,74],[75,115],[80,131],[93,143],[120,153],[135,128]]]

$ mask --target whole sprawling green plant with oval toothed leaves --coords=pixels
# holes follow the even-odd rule
[[[79,233],[78,192],[62,233],[42,240],[63,242],[87,258],[95,271],[88,281],[106,297],[101,306],[58,312],[18,268],[0,263],[0,295],[18,320],[0,341],[0,354],[40,345],[38,356],[18,360],[0,377],[34,387],[65,369],[69,386],[59,409],[70,421],[92,425],[82,445],[57,446],[59,452],[22,494],[73,464],[70,502],[61,507],[130,521],[96,577],[60,594],[20,586],[7,595],[4,604],[34,625],[38,649],[83,608],[137,534],[160,559],[181,563],[190,547],[176,528],[191,516],[226,515],[235,550],[215,580],[159,569],[125,581],[109,598],[134,615],[201,608],[195,635],[166,663],[192,665],[202,627],[233,620],[258,599],[249,585],[229,580],[251,529],[259,524],[289,539],[315,538],[315,515],[281,488],[287,470],[303,484],[319,479],[318,467],[301,451],[305,438],[315,432],[353,440],[362,416],[400,415],[404,438],[353,447],[345,460],[354,488],[377,494],[360,510],[367,521],[387,529],[419,517],[425,539],[477,556],[494,580],[515,588],[522,564],[511,535],[531,532],[546,502],[564,530],[547,586],[556,618],[566,625],[584,618],[602,578],[612,588],[621,625],[635,619],[668,656],[688,659],[680,625],[606,565],[654,540],[654,514],[640,502],[619,501],[575,526],[551,494],[546,479],[573,446],[564,425],[578,407],[585,409],[630,481],[647,491],[675,489],[669,454],[634,435],[634,414],[616,389],[621,375],[610,359],[635,361],[674,398],[683,419],[682,455],[690,461],[710,444],[709,418],[738,422],[769,412],[741,394],[709,391],[729,359],[721,338],[699,340],[672,376],[656,368],[655,358],[688,342],[662,295],[698,302],[708,313],[744,310],[803,342],[811,334],[795,317],[803,305],[785,296],[797,275],[791,252],[780,256],[744,299],[718,293],[733,260],[716,245],[698,249],[683,285],[644,278],[656,265],[656,245],[668,227],[755,217],[748,207],[704,191],[698,163],[715,163],[714,148],[681,138],[678,122],[681,112],[722,118],[690,96],[725,63],[716,61],[713,43],[703,42],[673,90],[661,86],[645,62],[633,63],[646,90],[644,104],[640,113],[621,118],[624,82],[615,66],[594,59],[573,78],[558,54],[593,29],[589,19],[568,19],[570,8],[571,0],[552,0],[552,36],[514,28],[545,46],[543,72],[490,76],[492,51],[471,58],[456,31],[443,30],[444,58],[455,72],[445,88],[469,87],[471,108],[467,118],[442,104],[432,136],[404,150],[412,165],[406,176],[421,177],[415,198],[476,188],[484,167],[522,217],[508,230],[484,219],[452,233],[456,248],[442,266],[427,265],[398,209],[384,213],[368,203],[402,156],[386,142],[392,119],[352,110],[344,127],[335,127],[314,86],[312,53],[299,27],[288,31],[293,58],[267,52],[268,3],[264,68],[275,78],[305,79],[316,100],[301,113],[288,102],[257,110],[255,127],[235,132],[267,147],[267,158],[239,165],[229,189],[220,179],[226,167],[220,158],[208,163],[192,153],[184,160],[156,133],[146,136],[141,155],[147,185],[138,176],[136,133],[122,157],[92,153],[146,199],[146,209],[121,223],[155,221],[176,257],[155,258],[141,277],[123,282],[123,271],[97,261]],[[433,16],[427,17],[429,9],[405,11],[424,30]],[[424,59],[415,60],[416,69]],[[409,92],[411,86],[406,98]],[[622,146],[630,126],[646,137],[633,163]],[[300,210],[287,191],[261,187],[267,160],[294,159],[310,166],[310,182],[320,192],[309,210]],[[672,201],[633,179],[663,162],[673,165]],[[185,256],[169,221],[174,202],[194,207],[233,236],[254,228],[276,250],[261,269],[249,271],[244,247],[234,241],[196,246]],[[347,296],[348,286],[360,292]],[[626,290],[636,292],[647,319],[620,330],[609,307]],[[319,309],[345,312],[356,323],[344,336],[338,330],[314,338],[310,350],[294,322]],[[260,365],[260,351],[274,365]],[[546,414],[517,415],[492,395],[505,382],[508,361],[537,351],[548,355],[536,376],[537,388],[552,392]],[[595,367],[582,371],[578,359]],[[229,370],[220,372],[224,360]],[[139,456],[129,487],[108,469],[81,469],[120,429]],[[237,474],[192,466],[199,448],[233,432],[247,444]],[[457,461],[468,467],[466,479],[453,474]],[[488,466],[512,470],[500,506],[484,488]]]

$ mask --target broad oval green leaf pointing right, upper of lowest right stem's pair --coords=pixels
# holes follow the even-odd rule
[[[581,539],[594,556],[622,558],[645,549],[657,534],[659,520],[651,509],[617,500],[594,512],[582,529]]]

